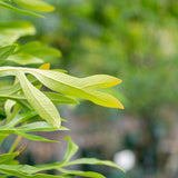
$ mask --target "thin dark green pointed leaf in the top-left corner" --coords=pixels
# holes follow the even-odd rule
[[[36,16],[36,17],[42,18],[41,14],[37,14],[37,13],[28,11],[28,10],[22,10],[22,9],[16,8],[16,7],[11,6],[10,3],[7,3],[7,2],[0,1],[0,7],[13,10],[18,13],[23,13],[23,14],[28,14],[28,16]]]

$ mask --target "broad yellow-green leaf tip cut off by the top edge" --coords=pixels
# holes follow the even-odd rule
[[[41,0],[13,0],[16,3],[18,3],[20,7],[34,10],[34,11],[41,11],[41,12],[50,12],[55,10],[55,7],[42,2]]]

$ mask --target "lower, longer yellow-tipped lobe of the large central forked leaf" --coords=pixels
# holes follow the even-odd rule
[[[69,75],[57,72],[57,71],[47,71],[47,70],[43,70],[43,71],[42,70],[38,70],[38,71],[33,70],[33,71],[34,72],[31,72],[31,75],[33,75],[44,86],[47,86],[48,88],[50,88],[57,92],[88,99],[95,103],[98,103],[98,105],[101,105],[105,107],[123,109],[123,106],[115,97],[107,95],[107,93],[103,93],[103,92],[100,92],[100,91],[96,91],[92,89],[92,87],[85,88],[86,87],[86,82],[83,85],[85,79],[78,79],[78,78],[71,77]],[[96,83],[97,83],[97,81],[96,81]],[[101,86],[101,83],[100,83],[100,86]],[[102,86],[103,86],[103,83],[102,83]],[[110,85],[109,85],[109,87],[110,87]]]

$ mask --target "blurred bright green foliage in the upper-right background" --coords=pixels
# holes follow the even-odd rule
[[[56,34],[43,24],[41,31],[49,36],[41,32],[39,38],[62,50],[60,65],[75,75],[121,76],[125,83],[118,90],[127,98],[125,107],[138,117],[152,118],[160,107],[177,106],[177,0],[53,0],[53,4],[59,7],[53,16],[60,18],[52,23]]]

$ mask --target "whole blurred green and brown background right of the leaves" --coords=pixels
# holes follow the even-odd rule
[[[30,20],[34,37],[62,52],[47,58],[52,68],[85,77],[107,73],[123,80],[108,90],[123,111],[85,101],[63,107],[71,135],[83,156],[112,159],[129,149],[136,165],[126,177],[178,176],[178,1],[177,0],[47,0],[56,11],[37,19],[0,9],[0,21]],[[98,169],[83,167],[83,169]],[[101,170],[103,171],[103,170]],[[108,178],[118,172],[106,169]]]

